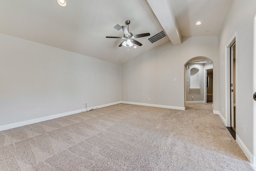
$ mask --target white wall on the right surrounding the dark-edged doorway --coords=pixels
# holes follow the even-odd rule
[[[242,149],[248,154],[256,155],[255,142],[255,105],[252,95],[254,93],[253,81],[253,20],[256,14],[255,0],[233,0],[229,12],[223,22],[218,36],[219,42],[219,107],[221,115],[227,119],[225,104],[225,82],[227,76],[225,73],[225,46],[228,44],[235,32],[236,37],[236,134],[238,135]],[[255,67],[255,66],[254,66]],[[222,111],[224,107],[224,111]],[[254,126],[253,126],[254,125]],[[245,134],[243,126],[246,127]],[[249,152],[245,151],[248,149]],[[249,158],[250,159],[250,158]],[[255,161],[256,162],[256,161]],[[256,164],[256,163],[255,163]]]

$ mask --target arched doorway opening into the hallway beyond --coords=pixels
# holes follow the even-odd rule
[[[213,62],[205,56],[191,58],[184,65],[186,103],[213,102]]]

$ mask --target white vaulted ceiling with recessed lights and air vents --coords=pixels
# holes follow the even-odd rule
[[[78,54],[122,64],[181,36],[218,35],[232,0],[0,0],[0,33],[38,42]],[[138,48],[118,47],[123,36],[114,30],[130,20]],[[196,22],[202,22],[196,26]],[[151,43],[148,38],[164,30],[166,37]]]

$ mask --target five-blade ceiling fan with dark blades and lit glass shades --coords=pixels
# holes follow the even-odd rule
[[[142,46],[140,42],[135,40],[135,38],[142,38],[146,36],[150,36],[150,33],[142,33],[142,34],[136,34],[133,35],[131,32],[129,32],[129,24],[131,23],[130,20],[126,20],[125,24],[128,26],[128,29],[126,26],[122,26],[123,32],[124,32],[124,37],[113,37],[113,36],[106,36],[106,38],[120,38],[120,39],[125,39],[122,41],[122,43],[119,45],[127,47],[127,50],[129,50],[129,47],[133,46],[133,44],[136,44],[138,46]]]

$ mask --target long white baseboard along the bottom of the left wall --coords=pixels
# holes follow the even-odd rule
[[[94,109],[97,108],[97,107],[101,108],[101,107],[106,107],[106,106],[115,105],[115,104],[119,104],[119,103],[121,103],[121,101],[114,102],[114,103],[108,103],[108,104],[104,104],[104,105],[99,105],[99,106],[95,106],[95,107],[88,107],[87,110],[89,111],[92,108],[94,108]],[[24,125],[30,125],[32,123],[38,123],[38,122],[42,122],[42,121],[47,121],[47,120],[55,119],[55,118],[58,118],[58,117],[73,115],[73,114],[76,114],[76,113],[81,113],[82,111],[86,111],[86,109],[79,109],[79,110],[75,110],[75,111],[59,113],[59,114],[56,114],[56,115],[40,117],[40,118],[31,119],[31,120],[27,120],[27,121],[11,123],[11,124],[8,124],[8,125],[2,125],[2,126],[0,126],[0,131],[4,131],[6,129],[12,129],[12,128],[16,128],[16,127],[21,127],[21,126],[24,126]]]

